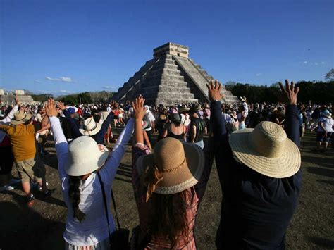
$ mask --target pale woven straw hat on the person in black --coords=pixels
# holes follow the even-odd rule
[[[297,145],[276,123],[261,122],[254,129],[237,130],[230,135],[229,143],[237,161],[262,175],[285,178],[300,168]]]

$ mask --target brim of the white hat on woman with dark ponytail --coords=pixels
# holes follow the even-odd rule
[[[64,164],[65,172],[71,176],[87,175],[94,172],[106,163],[106,159],[109,156],[109,152],[99,153],[101,154],[98,154],[95,157],[89,156],[85,161],[80,161],[80,163],[74,163],[72,159],[68,157]]]

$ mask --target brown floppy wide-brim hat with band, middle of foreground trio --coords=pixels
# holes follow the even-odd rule
[[[154,146],[154,154],[138,158],[136,168],[141,179],[150,170],[159,170],[163,179],[157,183],[154,193],[177,194],[199,182],[204,161],[204,152],[199,146],[168,137]]]

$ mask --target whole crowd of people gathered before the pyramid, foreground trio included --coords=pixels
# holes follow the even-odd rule
[[[34,204],[32,185],[45,199],[52,195],[42,161],[51,135],[68,208],[66,249],[116,249],[109,194],[132,137],[140,224],[131,249],[196,249],[196,216],[214,160],[223,193],[217,249],[284,249],[302,180],[300,138],[305,130],[316,131],[314,150],[326,151],[334,134],[331,104],[298,103],[293,82],[280,88],[278,104],[247,104],[245,96],[222,104],[217,81],[208,85],[210,104],[147,106],[143,96],[78,106],[16,100],[1,108],[0,151],[7,156],[0,165],[1,190],[13,188],[15,165],[27,206]],[[115,128],[123,129],[118,138]]]

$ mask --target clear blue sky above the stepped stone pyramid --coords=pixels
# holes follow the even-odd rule
[[[222,82],[324,80],[333,11],[333,0],[0,0],[0,88],[116,91],[166,42]]]

